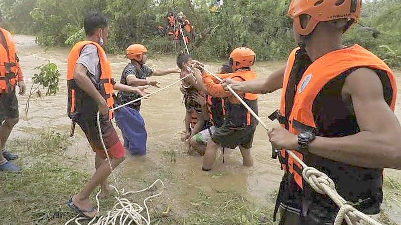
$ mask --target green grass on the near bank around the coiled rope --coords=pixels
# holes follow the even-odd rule
[[[64,224],[75,215],[65,202],[71,194],[79,191],[91,174],[83,172],[79,165],[71,166],[79,161],[78,157],[63,154],[70,145],[71,141],[66,134],[54,131],[44,131],[31,138],[10,141],[9,148],[21,156],[16,163],[22,165],[23,171],[19,174],[1,173],[0,224]],[[161,157],[166,155],[173,154],[162,153]],[[175,157],[169,159],[174,162]],[[69,165],[66,164],[67,161]],[[259,205],[239,192],[207,192],[198,188],[197,196],[190,203],[180,202],[179,182],[167,182],[174,180],[174,177],[178,181],[177,175],[168,165],[152,167],[149,174],[138,180],[139,186],[130,186],[130,189],[150,185],[157,177],[165,178],[167,191],[149,202],[152,224],[277,224],[272,220],[273,202],[269,202],[269,207]],[[121,182],[128,179],[129,177],[119,178]],[[400,202],[401,182],[386,177],[384,184],[386,201]],[[144,197],[155,191],[159,190],[129,197],[133,197],[133,201],[142,202]],[[272,191],[270,196],[274,198],[273,195],[276,194]],[[110,209],[113,203],[112,197],[102,200],[101,209]],[[166,211],[168,213],[164,213]],[[386,225],[395,224],[385,212],[381,214],[380,220]]]

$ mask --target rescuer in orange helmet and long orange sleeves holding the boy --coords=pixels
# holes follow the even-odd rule
[[[234,49],[229,58],[233,73],[218,74],[220,78],[230,78],[235,81],[251,81],[256,78],[256,73],[251,70],[256,60],[256,54],[248,48]],[[250,115],[250,112],[236,99],[231,92],[225,91],[220,82],[210,74],[203,72],[203,82],[207,92],[213,97],[224,98],[225,118],[223,124],[212,134],[207,142],[203,156],[204,171],[212,169],[219,146],[234,149],[239,146],[243,157],[243,165],[253,166],[250,154],[253,135],[258,122]],[[242,99],[257,113],[257,95],[239,93]],[[224,152],[223,152],[224,154]]]

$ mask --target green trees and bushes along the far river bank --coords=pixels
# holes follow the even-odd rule
[[[106,50],[123,53],[132,43],[146,45],[152,53],[174,54],[172,37],[158,35],[168,12],[182,11],[197,36],[189,49],[198,59],[227,58],[229,52],[246,45],[256,51],[258,60],[283,60],[295,47],[292,22],[287,17],[290,0],[226,1],[218,12],[210,12],[203,0],[0,0],[6,27],[15,32],[35,34],[45,46],[71,46],[84,38],[83,16],[90,10],[106,14],[110,37]],[[358,43],[400,67],[401,5],[398,0],[365,1],[360,25],[345,35],[345,44]],[[383,48],[381,46],[387,46]],[[391,51],[389,51],[391,50]],[[399,56],[399,54],[397,55]]]

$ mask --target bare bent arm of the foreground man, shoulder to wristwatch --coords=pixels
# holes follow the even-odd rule
[[[343,87],[349,95],[360,132],[340,138],[317,137],[313,154],[369,168],[401,169],[401,127],[384,100],[377,74],[361,68],[350,74]]]

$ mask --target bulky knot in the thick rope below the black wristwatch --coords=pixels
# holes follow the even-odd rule
[[[311,187],[320,194],[326,194],[323,184],[336,191],[336,184],[325,173],[320,172],[314,167],[305,167],[302,176],[311,185]]]

